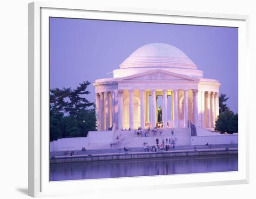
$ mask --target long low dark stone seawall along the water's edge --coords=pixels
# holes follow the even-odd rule
[[[237,148],[221,148],[221,149],[199,149],[199,150],[177,150],[165,152],[133,152],[119,154],[92,154],[92,155],[73,155],[73,156],[55,156],[51,157],[50,163],[73,163],[88,161],[106,161],[106,160],[132,160],[146,158],[170,158],[182,156],[204,156],[204,155],[224,155],[237,154]]]

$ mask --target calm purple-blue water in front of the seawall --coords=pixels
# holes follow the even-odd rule
[[[237,154],[50,165],[50,181],[237,171]]]

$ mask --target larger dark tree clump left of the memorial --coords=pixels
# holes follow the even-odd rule
[[[86,81],[75,89],[50,90],[50,141],[65,137],[84,137],[96,130],[95,103],[86,99]]]

